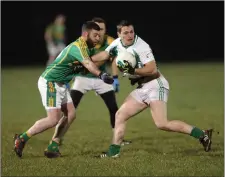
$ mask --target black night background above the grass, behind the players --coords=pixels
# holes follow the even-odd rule
[[[2,66],[45,65],[44,31],[58,13],[67,16],[68,43],[76,40],[84,21],[104,18],[117,37],[122,19],[152,48],[159,62],[224,59],[224,2],[1,2]]]

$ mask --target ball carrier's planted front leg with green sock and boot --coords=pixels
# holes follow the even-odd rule
[[[126,123],[129,118],[143,111],[147,105],[140,101],[140,97],[134,90],[116,113],[115,129],[112,144],[108,152],[100,155],[103,157],[117,157],[120,153],[121,143],[124,138]]]

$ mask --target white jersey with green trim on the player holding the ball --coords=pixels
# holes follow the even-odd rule
[[[137,35],[135,36],[133,44],[129,46],[124,46],[121,39],[117,38],[105,49],[105,51],[113,56],[117,56],[124,50],[135,56],[137,60],[135,68],[142,68],[144,64],[155,60],[150,46]]]

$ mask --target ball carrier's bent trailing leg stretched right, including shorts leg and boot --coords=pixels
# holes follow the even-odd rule
[[[203,144],[205,151],[209,151],[211,148],[211,139],[208,136],[208,131],[191,126],[180,120],[168,120],[167,119],[167,100],[169,90],[166,87],[167,81],[165,78],[159,79],[159,87],[154,85],[154,82],[149,84],[152,87],[148,94],[146,102],[150,105],[152,118],[156,126],[165,131],[172,131],[178,133],[184,133],[199,139]]]

